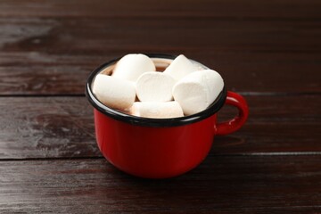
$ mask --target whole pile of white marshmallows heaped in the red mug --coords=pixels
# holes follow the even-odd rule
[[[215,70],[179,55],[164,70],[156,71],[144,54],[127,54],[111,75],[95,77],[93,92],[108,107],[144,118],[177,118],[205,110],[224,87]]]

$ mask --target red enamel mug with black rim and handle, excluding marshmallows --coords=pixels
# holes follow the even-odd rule
[[[153,62],[166,64],[176,58],[168,54],[146,54]],[[241,128],[249,110],[242,95],[226,87],[210,106],[199,113],[174,119],[150,119],[113,110],[95,97],[92,84],[102,70],[112,70],[119,59],[104,63],[86,82],[86,97],[94,106],[95,136],[103,156],[116,168],[136,177],[165,178],[181,175],[198,166],[210,152],[214,136]],[[199,62],[192,61],[203,69]],[[224,105],[235,106],[234,119],[217,122]]]

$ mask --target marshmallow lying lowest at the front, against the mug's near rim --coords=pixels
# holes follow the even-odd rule
[[[175,102],[135,102],[131,114],[137,117],[165,119],[183,117],[183,110]]]

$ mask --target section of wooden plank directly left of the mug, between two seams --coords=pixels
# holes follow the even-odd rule
[[[0,106],[2,158],[99,155],[85,97],[4,97]]]

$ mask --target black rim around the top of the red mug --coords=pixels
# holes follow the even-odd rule
[[[169,60],[174,60],[177,57],[177,55],[171,55],[166,53],[144,53],[144,54],[151,58],[164,58]],[[183,126],[194,122],[198,122],[202,119],[209,118],[210,116],[218,112],[226,101],[227,92],[226,92],[226,86],[224,86],[221,93],[218,95],[217,99],[213,103],[211,103],[207,109],[185,117],[170,118],[170,119],[142,118],[142,117],[136,117],[133,115],[129,115],[129,114],[111,109],[110,107],[101,103],[95,97],[94,93],[92,92],[91,86],[97,73],[111,66],[112,64],[118,62],[120,58],[121,57],[111,60],[110,62],[105,62],[101,66],[93,70],[90,73],[89,77],[87,78],[86,89],[85,89],[85,94],[89,103],[91,103],[96,110],[102,112],[104,115],[109,116],[113,119],[118,119],[120,121],[124,121],[132,125],[144,126],[144,127],[177,127],[177,126]]]

